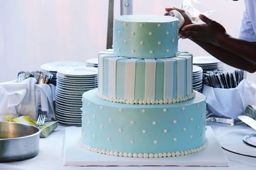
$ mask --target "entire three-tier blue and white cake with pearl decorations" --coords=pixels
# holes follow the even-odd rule
[[[99,89],[83,94],[84,148],[159,158],[207,146],[205,96],[192,90],[192,55],[177,55],[178,22],[156,15],[115,19],[113,51],[99,53]]]

